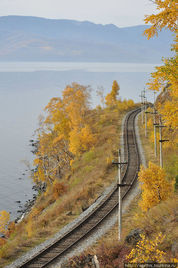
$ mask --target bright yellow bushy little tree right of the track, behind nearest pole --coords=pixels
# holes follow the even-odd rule
[[[168,183],[165,177],[165,170],[151,161],[149,161],[148,168],[140,166],[138,180],[142,200],[140,200],[139,206],[142,211],[149,210],[170,196],[173,191],[173,182]]]

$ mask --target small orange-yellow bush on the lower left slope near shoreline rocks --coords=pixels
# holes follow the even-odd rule
[[[31,237],[35,228],[38,229],[38,218],[40,215],[40,211],[37,208],[32,208],[30,213],[28,222],[26,222],[25,230],[27,232],[27,236]]]

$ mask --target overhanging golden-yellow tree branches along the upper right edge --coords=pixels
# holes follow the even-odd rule
[[[157,5],[157,14],[145,15],[145,23],[151,23],[152,26],[144,31],[147,38],[158,35],[158,31],[163,28],[169,29],[174,33],[175,43],[172,45],[172,51],[175,56],[163,58],[164,65],[155,67],[156,71],[152,73],[152,80],[148,83],[151,90],[160,90],[160,86],[170,83],[171,103],[165,103],[167,108],[162,111],[165,125],[172,129],[178,129],[178,3],[175,0],[150,0]]]

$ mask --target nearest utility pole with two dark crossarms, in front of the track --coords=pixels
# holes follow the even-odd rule
[[[132,184],[122,184],[122,179],[121,179],[121,167],[124,164],[128,164],[127,160],[125,162],[121,162],[121,149],[119,149],[119,162],[115,162],[115,160],[112,161],[112,164],[116,164],[119,168],[119,183],[118,183],[118,188],[119,188],[119,240],[121,240],[122,236],[122,187],[124,186],[131,186]]]

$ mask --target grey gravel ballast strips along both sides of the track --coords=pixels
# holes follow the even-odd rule
[[[126,116],[123,119],[123,123],[122,123],[122,127],[121,127],[121,144],[123,144],[124,120],[125,120]],[[138,120],[138,115],[136,116],[136,122],[137,122],[137,120]],[[142,148],[140,137],[139,137],[138,125],[136,125],[136,136],[137,136],[138,150],[139,150],[139,153],[141,156],[141,162],[144,165],[146,165],[145,157],[143,154],[143,148]],[[124,155],[123,146],[121,146],[121,154]],[[17,260],[15,260],[12,264],[7,265],[5,268],[17,267],[23,261],[26,261],[26,259],[32,258],[32,256],[35,255],[36,253],[38,253],[40,250],[43,250],[47,245],[53,243],[56,239],[60,238],[63,234],[65,234],[68,230],[70,230],[74,225],[76,225],[81,219],[83,219],[88,213],[90,213],[93,210],[93,208],[95,208],[96,205],[98,205],[102,201],[102,199],[104,199],[104,197],[111,191],[111,189],[113,188],[114,185],[115,185],[115,182],[113,182],[109,187],[107,187],[107,189],[103,192],[102,196],[99,197],[95,203],[93,203],[86,211],[82,212],[78,218],[74,219],[68,225],[63,227],[58,233],[55,234],[55,236],[53,238],[50,238],[50,239],[46,240],[45,242],[41,243],[40,245],[36,246],[32,250],[30,250],[28,253],[24,254],[21,258],[18,258]],[[127,206],[130,204],[132,199],[137,194],[139,194],[139,192],[140,191],[138,189],[138,182],[137,182],[137,183],[135,183],[134,187],[130,190],[129,196],[127,197],[127,199],[125,199],[122,203],[123,204],[123,213],[125,213],[127,211]],[[106,233],[110,228],[112,228],[112,226],[115,224],[115,222],[117,220],[118,220],[118,213],[116,213],[105,224],[103,224],[102,228],[97,230],[96,233],[94,233],[93,236],[90,237],[90,239],[85,239],[85,241],[82,241],[82,245],[75,246],[75,249],[71,250],[70,253],[66,254],[64,258],[61,258],[60,261],[55,261],[53,264],[50,264],[48,267],[51,267],[51,268],[60,267],[60,264],[64,260],[72,257],[73,255],[76,255],[76,254],[82,252],[85,248],[87,248],[91,244],[95,243],[96,240],[99,239],[99,237],[104,235],[104,233]],[[81,244],[81,242],[79,242],[79,244]]]

